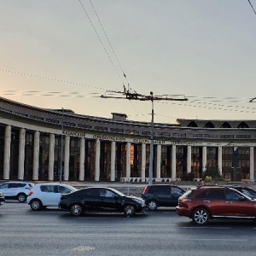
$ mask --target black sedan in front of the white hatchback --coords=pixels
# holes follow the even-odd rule
[[[73,216],[79,216],[83,212],[124,212],[125,216],[130,217],[147,209],[142,198],[127,196],[106,187],[90,187],[63,194],[59,206]]]

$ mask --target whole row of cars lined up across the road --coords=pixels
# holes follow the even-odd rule
[[[130,217],[158,207],[176,207],[178,215],[196,224],[207,224],[212,218],[256,221],[256,190],[246,186],[199,186],[186,191],[176,185],[152,184],[136,197],[107,187],[76,189],[65,183],[7,182],[0,184],[0,205],[5,198],[26,201],[33,211],[59,207],[73,216],[83,212],[123,212]]]

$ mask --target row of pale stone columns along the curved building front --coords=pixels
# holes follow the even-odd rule
[[[3,156],[3,179],[9,179],[9,163],[10,163],[10,145],[11,145],[11,125],[6,125],[4,135],[4,156]],[[85,148],[84,140],[86,138],[80,137],[80,155],[79,155],[79,180],[84,180],[84,159]],[[34,131],[33,135],[33,160],[32,160],[32,179],[38,180],[38,160],[39,160],[39,143],[40,132]],[[131,142],[126,143],[126,177],[131,177]],[[20,129],[20,141],[19,141],[19,162],[18,162],[18,179],[24,179],[24,161],[25,161],[25,144],[26,144],[26,129]],[[156,146],[156,178],[160,178],[161,169],[161,144]],[[191,145],[187,145],[187,173],[191,172]],[[212,146],[213,147],[213,146]],[[172,177],[176,177],[176,150],[177,145],[172,144]],[[70,136],[64,137],[64,172],[63,180],[68,181],[69,178],[69,157],[70,157]],[[49,134],[49,172],[48,180],[54,180],[54,156],[55,156],[55,134]],[[100,180],[100,156],[101,156],[101,141],[96,138],[96,158],[95,158],[95,181]],[[141,165],[141,177],[145,177],[146,173],[146,144],[142,143],[142,165]],[[250,179],[253,179],[254,173],[254,147],[250,146]],[[110,181],[115,180],[115,159],[116,159],[116,142],[111,142],[111,166],[110,166]],[[207,166],[207,146],[202,146],[202,166]],[[222,146],[218,145],[218,168],[222,172]],[[203,170],[204,171],[204,170]]]

